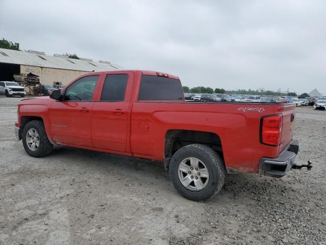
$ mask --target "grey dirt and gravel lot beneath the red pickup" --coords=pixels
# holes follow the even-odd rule
[[[298,108],[297,163],[282,179],[229,175],[206,202],[182,198],[161,163],[14,138],[20,99],[0,97],[0,244],[326,244],[326,111]]]

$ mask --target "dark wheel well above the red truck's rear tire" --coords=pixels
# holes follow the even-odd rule
[[[188,144],[204,144],[213,149],[224,161],[222,142],[219,135],[195,130],[169,130],[165,138],[165,167],[170,165],[173,154]]]

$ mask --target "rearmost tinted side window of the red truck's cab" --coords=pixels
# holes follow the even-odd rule
[[[183,100],[180,80],[173,78],[143,75],[139,89],[140,101]]]

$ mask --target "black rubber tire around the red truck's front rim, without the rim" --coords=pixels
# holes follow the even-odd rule
[[[26,143],[26,134],[30,129],[35,129],[39,135],[39,146],[35,151],[32,151]],[[33,120],[29,121],[22,131],[22,143],[27,154],[31,157],[45,157],[52,152],[53,144],[49,141],[46,136],[43,121]]]

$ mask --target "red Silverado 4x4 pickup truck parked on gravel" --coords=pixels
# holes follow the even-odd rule
[[[54,144],[164,162],[191,200],[219,192],[226,174],[282,177],[295,167],[295,107],[185,102],[180,80],[155,71],[91,72],[18,104],[15,133],[32,157]]]

